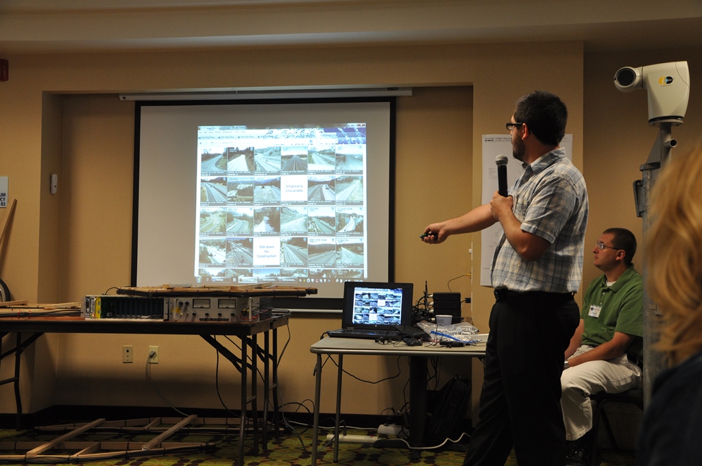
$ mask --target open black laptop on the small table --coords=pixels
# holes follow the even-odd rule
[[[331,337],[420,338],[426,333],[412,326],[413,284],[371,281],[344,283],[341,326]]]

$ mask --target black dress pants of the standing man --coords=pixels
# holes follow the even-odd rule
[[[580,321],[570,293],[496,291],[480,415],[464,465],[563,466],[560,411],[564,352]]]

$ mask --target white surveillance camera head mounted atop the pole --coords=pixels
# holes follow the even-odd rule
[[[649,125],[682,124],[690,95],[687,62],[658,63],[644,67],[623,67],[614,74],[619,91],[646,89],[649,95]]]

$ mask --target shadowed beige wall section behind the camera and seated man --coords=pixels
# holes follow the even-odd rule
[[[642,220],[636,217],[633,182],[642,179],[640,168],[656,142],[658,128],[648,126],[646,91],[621,93],[614,87],[614,74],[625,66],[687,61],[691,91],[682,126],[673,126],[673,138],[681,154],[702,138],[701,51],[640,51],[597,53],[585,56],[585,154],[583,174],[588,184],[590,221],[585,237],[585,283],[600,275],[592,265],[592,250],[602,231],[609,227],[630,229],[639,243],[634,258],[639,272],[644,267]]]

